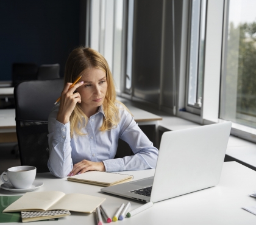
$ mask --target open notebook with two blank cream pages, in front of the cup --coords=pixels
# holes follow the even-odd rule
[[[79,193],[28,192],[3,212],[69,210],[92,213],[104,201],[105,198]]]

